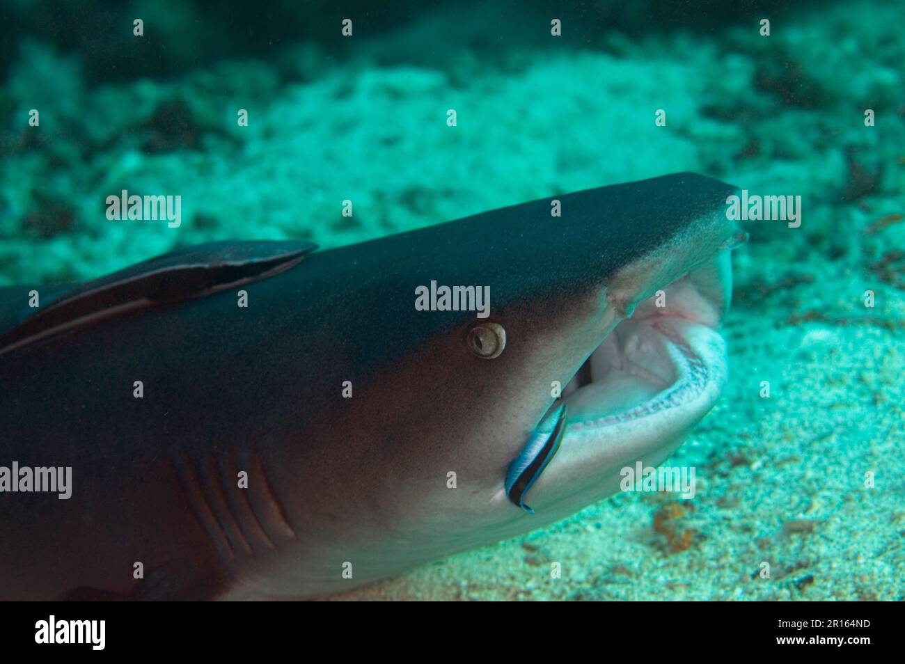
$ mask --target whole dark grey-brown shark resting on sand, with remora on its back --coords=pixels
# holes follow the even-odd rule
[[[319,598],[613,494],[727,380],[732,194],[680,173],[0,289],[0,466],[71,468],[67,499],[0,481],[0,598]],[[487,317],[416,308],[432,281]]]

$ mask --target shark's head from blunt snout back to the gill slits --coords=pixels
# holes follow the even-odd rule
[[[262,363],[289,441],[264,463],[306,533],[266,593],[348,588],[347,560],[364,583],[491,544],[665,460],[727,380],[735,192],[688,173],[606,186],[262,282],[255,301],[285,312]]]

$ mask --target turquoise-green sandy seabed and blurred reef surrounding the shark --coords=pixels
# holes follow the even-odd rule
[[[678,171],[801,196],[798,227],[743,223],[729,387],[670,462],[693,500],[616,495],[339,599],[905,597],[905,3],[0,7],[0,286]],[[181,195],[181,225],[108,220],[123,189]]]

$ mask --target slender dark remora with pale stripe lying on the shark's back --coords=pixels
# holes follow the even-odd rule
[[[203,297],[266,279],[317,249],[311,242],[208,242],[136,263],[67,290],[0,333],[0,355],[71,327],[159,302]],[[48,287],[48,291],[52,292]],[[54,293],[55,294],[55,293]],[[22,301],[28,291],[21,294]]]

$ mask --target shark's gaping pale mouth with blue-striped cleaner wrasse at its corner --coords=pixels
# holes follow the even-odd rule
[[[717,327],[730,289],[727,251],[620,320],[510,464],[504,484],[510,501],[533,513],[525,495],[569,436],[605,439],[608,428],[650,418],[669,440],[700,420],[726,379],[726,345]]]

